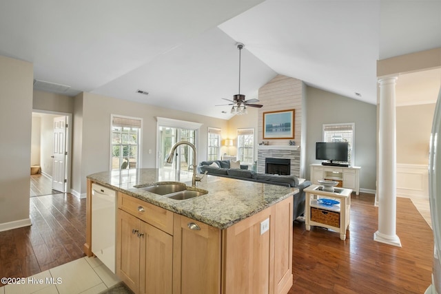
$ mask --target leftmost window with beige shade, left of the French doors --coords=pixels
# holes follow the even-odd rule
[[[112,115],[110,169],[140,167],[142,118]]]

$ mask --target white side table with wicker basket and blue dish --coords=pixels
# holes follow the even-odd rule
[[[305,227],[325,227],[340,232],[340,240],[346,240],[349,229],[352,189],[334,188],[334,192],[323,191],[320,185],[311,185],[305,191]],[[338,200],[339,204],[327,205],[320,198]]]

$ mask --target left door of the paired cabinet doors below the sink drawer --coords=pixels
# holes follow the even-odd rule
[[[139,237],[141,220],[118,209],[116,225],[116,274],[139,293]]]

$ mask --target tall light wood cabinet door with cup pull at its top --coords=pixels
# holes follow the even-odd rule
[[[173,293],[220,293],[219,229],[175,214],[173,248]]]

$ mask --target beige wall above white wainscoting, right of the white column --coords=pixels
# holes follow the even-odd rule
[[[435,104],[396,108],[398,164],[429,164],[429,139],[434,112]]]

